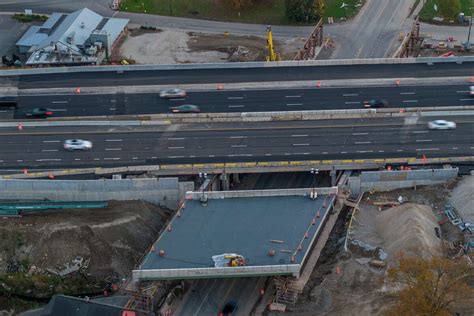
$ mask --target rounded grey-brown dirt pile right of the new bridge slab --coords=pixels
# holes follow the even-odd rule
[[[439,254],[441,240],[436,237],[439,229],[431,207],[407,203],[383,211],[376,218],[376,229],[383,239],[389,258],[398,253],[424,258]]]

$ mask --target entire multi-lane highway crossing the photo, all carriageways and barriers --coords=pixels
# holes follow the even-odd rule
[[[0,124],[0,168],[158,166],[163,171],[163,166],[171,165],[167,172],[177,174],[215,170],[216,166],[225,169],[236,163],[259,167],[265,163],[306,166],[309,161],[328,166],[336,165],[335,161],[351,166],[384,165],[390,159],[399,159],[400,163],[426,158],[470,161],[474,156],[474,98],[468,90],[473,62],[466,57],[85,67],[39,69],[39,74],[33,70],[6,71],[1,82],[4,87],[16,89],[19,106],[10,117],[16,121]],[[315,80],[324,79],[337,83],[314,86]],[[265,88],[259,88],[263,80]],[[407,81],[410,83],[405,84]],[[216,89],[216,83],[226,82],[226,89]],[[250,88],[235,88],[242,82]],[[150,89],[124,92],[134,85],[150,86],[153,91],[163,84],[189,84],[196,90],[191,90],[188,99],[174,101],[161,100],[157,91]],[[78,86],[90,87],[93,92],[79,93],[75,91]],[[363,101],[378,98],[390,103],[387,115],[357,112],[363,108]],[[179,121],[183,116],[160,116],[169,111],[170,105],[184,102],[198,104],[204,114],[191,116],[185,123]],[[24,113],[38,106],[53,108],[60,117],[48,120],[49,126],[25,122]],[[399,109],[414,112],[396,115]],[[327,110],[347,110],[352,116],[329,114],[316,120],[300,117],[305,111],[317,116]],[[226,115],[230,118],[239,112],[272,111],[283,114],[258,122],[225,122],[230,120]],[[221,122],[207,117],[212,113],[222,114]],[[158,116],[147,117],[151,120],[147,124],[120,121],[142,120],[145,114]],[[113,127],[94,121],[98,116],[114,121]],[[428,121],[447,116],[456,121],[457,129],[427,128]],[[55,125],[55,120],[61,126]],[[78,120],[87,121],[87,126]],[[21,131],[12,128],[11,122],[22,121],[25,128]],[[8,122],[10,125],[5,124]],[[85,152],[63,150],[63,141],[71,138],[90,140],[94,148]]]

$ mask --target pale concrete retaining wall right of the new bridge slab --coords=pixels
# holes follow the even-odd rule
[[[457,177],[458,171],[458,168],[445,168],[362,172],[359,177],[349,177],[349,188],[353,193],[359,194],[370,190],[386,191],[417,185],[432,185]]]

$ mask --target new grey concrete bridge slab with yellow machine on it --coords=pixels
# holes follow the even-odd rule
[[[207,205],[188,200],[180,216],[171,221],[171,231],[163,232],[136,275],[146,279],[196,277],[189,273],[195,269],[201,269],[200,277],[271,275],[284,274],[284,266],[291,266],[287,274],[294,274],[333,202],[334,194],[316,200],[309,196],[209,199]],[[274,256],[268,255],[271,249]],[[247,266],[214,268],[211,257],[223,253],[244,256]],[[255,273],[250,273],[252,268]]]

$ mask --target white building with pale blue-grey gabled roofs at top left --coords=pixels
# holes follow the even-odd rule
[[[128,19],[104,18],[87,9],[53,13],[16,43],[27,65],[96,65],[110,55],[126,32]]]

